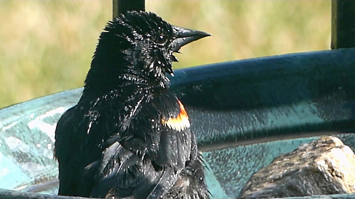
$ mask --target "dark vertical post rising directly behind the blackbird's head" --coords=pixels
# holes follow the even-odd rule
[[[120,14],[129,10],[145,11],[145,0],[113,0],[112,17],[116,18]]]

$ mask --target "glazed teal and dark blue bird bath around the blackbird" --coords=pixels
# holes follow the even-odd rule
[[[354,55],[338,49],[175,71],[171,87],[189,113],[212,198],[236,198],[254,172],[320,135],[336,134],[354,150],[354,134],[345,133],[355,129]],[[58,190],[55,126],[81,92],[0,110],[0,198],[67,198],[40,193]]]

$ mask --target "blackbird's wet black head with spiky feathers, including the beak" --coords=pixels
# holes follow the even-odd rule
[[[177,27],[151,12],[130,11],[107,23],[86,78],[86,86],[98,78],[104,84],[142,80],[165,86],[173,75],[173,55],[192,41],[209,36],[197,30]]]

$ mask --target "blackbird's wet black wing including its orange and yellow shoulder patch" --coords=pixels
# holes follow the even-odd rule
[[[95,176],[91,197],[159,198],[173,187],[195,154],[187,114],[173,93],[137,104],[129,119],[122,120],[127,113],[120,112],[119,122],[109,122],[127,124],[126,130],[114,133],[97,127],[105,126],[106,120],[91,127],[89,136],[105,130],[113,135],[105,138],[102,153],[84,172],[83,179]]]

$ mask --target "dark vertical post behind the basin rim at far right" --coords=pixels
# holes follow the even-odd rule
[[[355,0],[332,0],[331,49],[355,47]]]

